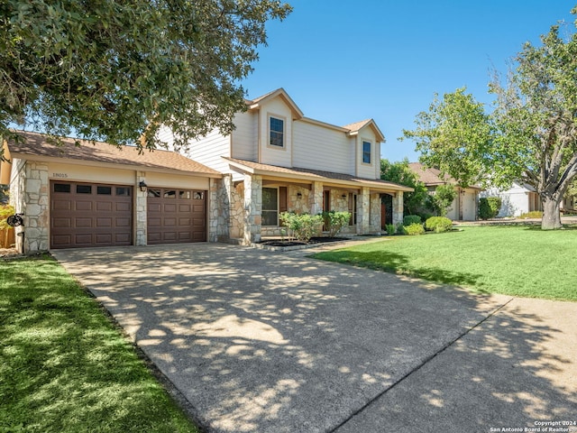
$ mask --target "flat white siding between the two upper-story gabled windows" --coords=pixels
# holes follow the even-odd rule
[[[354,174],[352,140],[336,131],[306,121],[294,122],[293,165],[312,170]]]

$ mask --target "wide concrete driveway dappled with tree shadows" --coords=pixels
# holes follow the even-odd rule
[[[53,255],[208,431],[463,433],[577,421],[577,303],[475,296],[226,244]]]

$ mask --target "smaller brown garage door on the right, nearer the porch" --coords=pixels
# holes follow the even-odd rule
[[[148,189],[148,244],[206,241],[206,191]]]

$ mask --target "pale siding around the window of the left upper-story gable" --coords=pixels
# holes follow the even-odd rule
[[[269,117],[278,117],[285,121],[285,146],[277,148],[269,145]],[[260,113],[260,155],[262,164],[292,167],[292,112],[280,98],[270,100],[261,107]]]

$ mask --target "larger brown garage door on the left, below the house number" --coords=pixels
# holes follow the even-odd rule
[[[50,181],[50,248],[133,243],[133,189]]]

